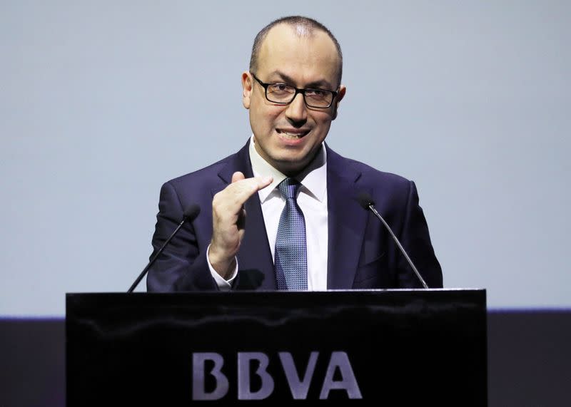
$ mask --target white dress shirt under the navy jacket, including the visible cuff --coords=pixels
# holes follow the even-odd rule
[[[250,161],[252,171],[256,177],[271,175],[273,181],[270,185],[258,191],[262,206],[263,221],[266,225],[266,234],[274,259],[276,250],[276,235],[281,212],[285,207],[285,199],[281,196],[277,186],[285,180],[286,175],[273,168],[254,147],[254,138],[250,140]],[[328,254],[328,223],[327,223],[327,156],[325,146],[321,149],[310,165],[295,177],[300,182],[297,202],[305,218],[305,242],[308,256],[308,290],[325,291],[327,289],[327,254]],[[246,215],[248,216],[248,215]],[[248,233],[248,231],[246,231]],[[210,246],[208,246],[210,249]],[[208,254],[206,256],[208,259]],[[233,279],[238,274],[238,263],[232,276],[225,280],[213,269],[208,260],[213,278],[218,287],[223,290],[231,288]]]

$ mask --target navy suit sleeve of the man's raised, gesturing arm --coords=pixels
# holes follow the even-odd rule
[[[162,247],[183,217],[183,203],[171,182],[161,187],[158,215],[153,234],[153,254]],[[198,217],[197,220],[200,220]],[[194,223],[185,223],[177,235],[165,247],[147,277],[148,292],[178,292],[218,290],[212,278],[206,248],[201,248],[196,237]]]

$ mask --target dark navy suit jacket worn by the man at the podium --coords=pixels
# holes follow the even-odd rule
[[[148,272],[149,292],[217,290],[206,262],[212,237],[212,199],[231,182],[233,172],[252,177],[246,145],[234,155],[202,170],[166,182],[158,202],[154,252],[166,241],[191,203],[200,215],[181,230]],[[343,158],[327,148],[328,289],[422,287],[390,234],[355,200],[368,192],[375,207],[400,240],[430,288],[443,287],[414,182]],[[276,289],[273,260],[258,194],[246,204],[246,233],[233,289]],[[153,254],[154,254],[153,252]],[[152,254],[151,254],[152,257]]]

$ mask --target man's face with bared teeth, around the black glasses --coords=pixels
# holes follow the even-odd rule
[[[335,44],[322,31],[299,36],[295,27],[280,24],[263,41],[254,74],[264,83],[336,91],[338,58]],[[325,109],[308,108],[301,94],[289,105],[272,103],[249,72],[242,74],[242,86],[258,153],[285,175],[303,170],[325,140],[345,86],[340,86],[333,104]]]

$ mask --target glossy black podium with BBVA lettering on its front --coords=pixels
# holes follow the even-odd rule
[[[485,290],[67,294],[67,405],[486,406]]]

